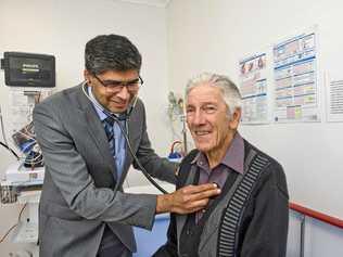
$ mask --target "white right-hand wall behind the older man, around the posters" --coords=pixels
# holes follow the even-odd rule
[[[323,90],[323,72],[341,68],[342,10],[339,0],[173,0],[167,13],[170,90],[182,92],[187,80],[201,72],[226,74],[237,82],[243,54],[316,24]],[[240,131],[283,165],[291,201],[343,218],[342,123],[328,124],[322,116],[317,124],[241,126]],[[322,228],[316,221],[309,226]],[[307,257],[341,256],[342,230],[327,227],[308,233],[320,240],[308,242]],[[323,236],[328,233],[334,236]]]

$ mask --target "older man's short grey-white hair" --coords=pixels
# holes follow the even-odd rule
[[[236,110],[242,108],[242,97],[236,83],[232,82],[227,76],[211,73],[202,73],[188,81],[185,95],[186,102],[188,102],[188,94],[190,91],[203,83],[208,83],[220,89],[223,93],[223,100],[228,106],[229,117],[232,117],[232,114]]]

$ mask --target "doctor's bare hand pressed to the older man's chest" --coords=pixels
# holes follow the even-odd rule
[[[203,209],[211,197],[220,193],[214,183],[187,185],[170,194],[157,195],[156,214],[190,214]]]

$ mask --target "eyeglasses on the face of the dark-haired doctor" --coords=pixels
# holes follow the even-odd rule
[[[124,87],[126,87],[127,91],[129,92],[136,92],[139,87],[143,85],[143,79],[140,76],[128,81],[101,80],[96,74],[93,74],[93,76],[103,87],[105,87],[111,92],[120,92]]]

